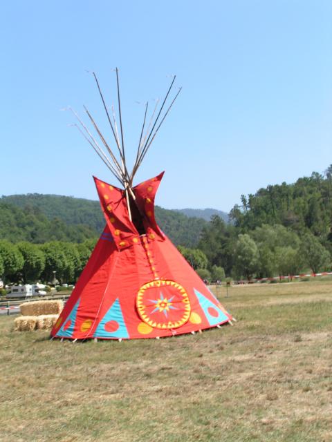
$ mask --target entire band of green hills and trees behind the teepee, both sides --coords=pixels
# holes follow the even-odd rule
[[[156,217],[190,265],[208,280],[293,276],[332,268],[332,166],[324,175],[313,173],[294,184],[242,195],[230,223],[217,215],[206,222],[160,207]],[[0,277],[49,280],[56,270],[59,280],[75,282],[102,227],[98,202],[55,195],[4,197]]]

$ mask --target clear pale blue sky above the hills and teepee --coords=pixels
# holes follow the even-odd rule
[[[241,193],[332,163],[332,3],[309,0],[8,1],[0,6],[0,195],[97,199],[114,183],[69,126],[86,104],[110,140],[120,69],[128,160],[147,99],[183,86],[136,183],[165,170],[157,204],[229,211]],[[140,104],[138,104],[140,103]]]

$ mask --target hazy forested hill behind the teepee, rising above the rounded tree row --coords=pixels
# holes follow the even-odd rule
[[[189,220],[183,213],[158,206],[156,219],[174,244],[185,247],[196,247],[207,224],[202,218]],[[104,225],[98,201],[39,193],[0,198],[0,239],[82,242],[100,236]]]

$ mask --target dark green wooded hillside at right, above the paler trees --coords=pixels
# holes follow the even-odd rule
[[[332,166],[324,175],[314,172],[294,184],[283,182],[242,195],[241,206],[234,206],[230,218],[242,232],[261,224],[282,224],[326,240],[332,227]]]

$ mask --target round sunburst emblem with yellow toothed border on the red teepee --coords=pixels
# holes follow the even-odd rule
[[[154,280],[140,287],[136,307],[140,318],[156,329],[181,327],[191,313],[187,292],[172,280]]]

